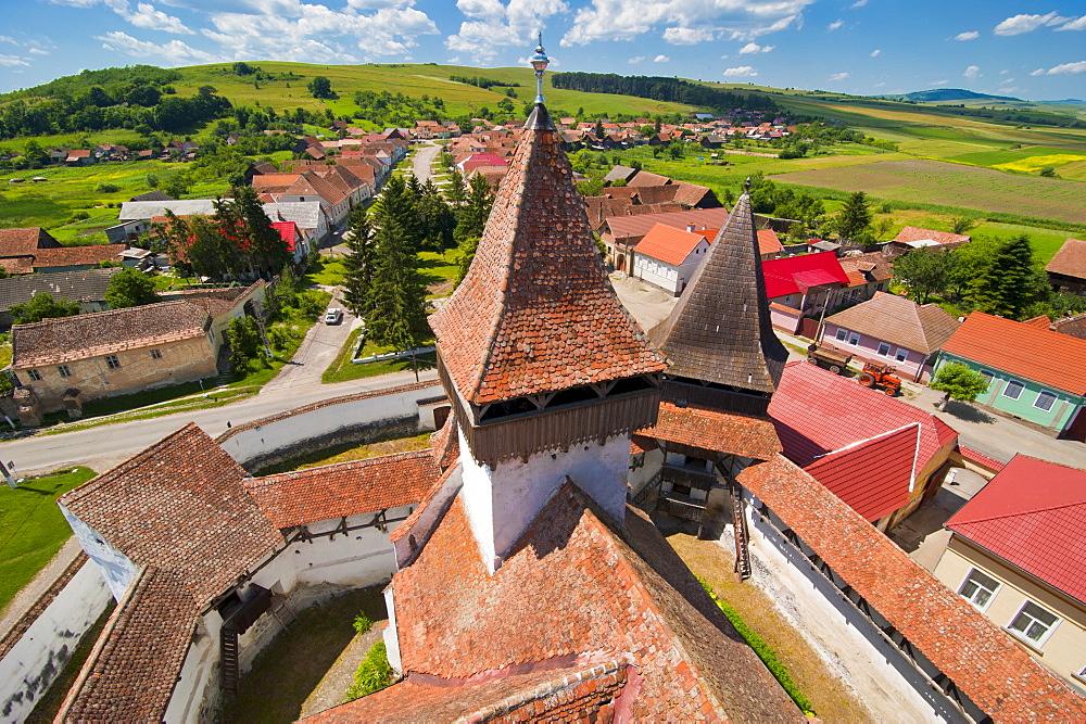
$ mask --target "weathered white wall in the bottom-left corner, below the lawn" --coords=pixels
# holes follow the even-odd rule
[[[0,659],[0,722],[25,722],[105,610],[110,587],[91,561]]]

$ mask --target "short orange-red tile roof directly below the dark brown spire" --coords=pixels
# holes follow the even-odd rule
[[[671,403],[660,403],[656,424],[637,434],[758,460],[781,452],[781,441],[769,420]]]

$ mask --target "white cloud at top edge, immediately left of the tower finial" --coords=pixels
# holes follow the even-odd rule
[[[526,45],[546,28],[548,17],[569,10],[561,0],[509,0],[507,4],[501,0],[457,0],[456,8],[469,20],[445,39],[445,47],[479,63],[493,61],[502,47]],[[427,21],[433,26],[429,17]]]

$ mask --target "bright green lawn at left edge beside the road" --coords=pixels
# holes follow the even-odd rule
[[[96,474],[79,467],[24,481],[15,490],[0,483],[0,610],[72,535],[56,498]]]

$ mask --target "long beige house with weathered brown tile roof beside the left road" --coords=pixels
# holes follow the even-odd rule
[[[28,419],[78,414],[83,402],[214,377],[222,340],[211,339],[211,325],[188,302],[15,325],[7,370],[37,399]]]

